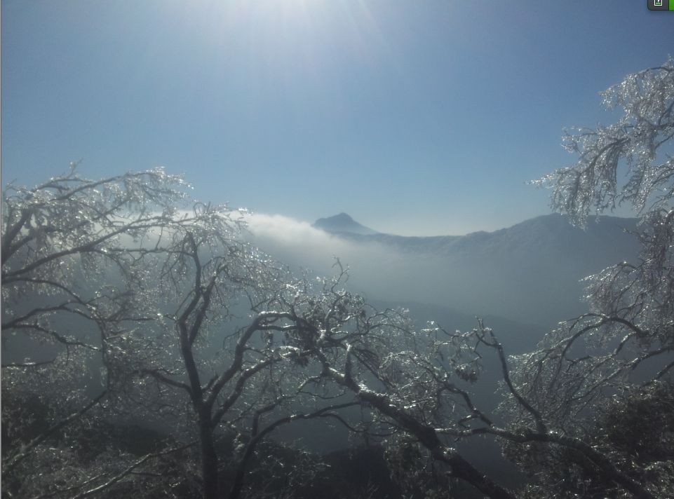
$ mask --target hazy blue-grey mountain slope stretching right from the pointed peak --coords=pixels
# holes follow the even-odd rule
[[[358,255],[345,259],[352,282],[372,296],[551,326],[586,311],[583,278],[636,259],[638,240],[626,232],[636,224],[591,217],[583,230],[549,214],[489,233],[405,237],[341,231],[335,237],[363,255],[379,251],[379,259],[367,262]]]

